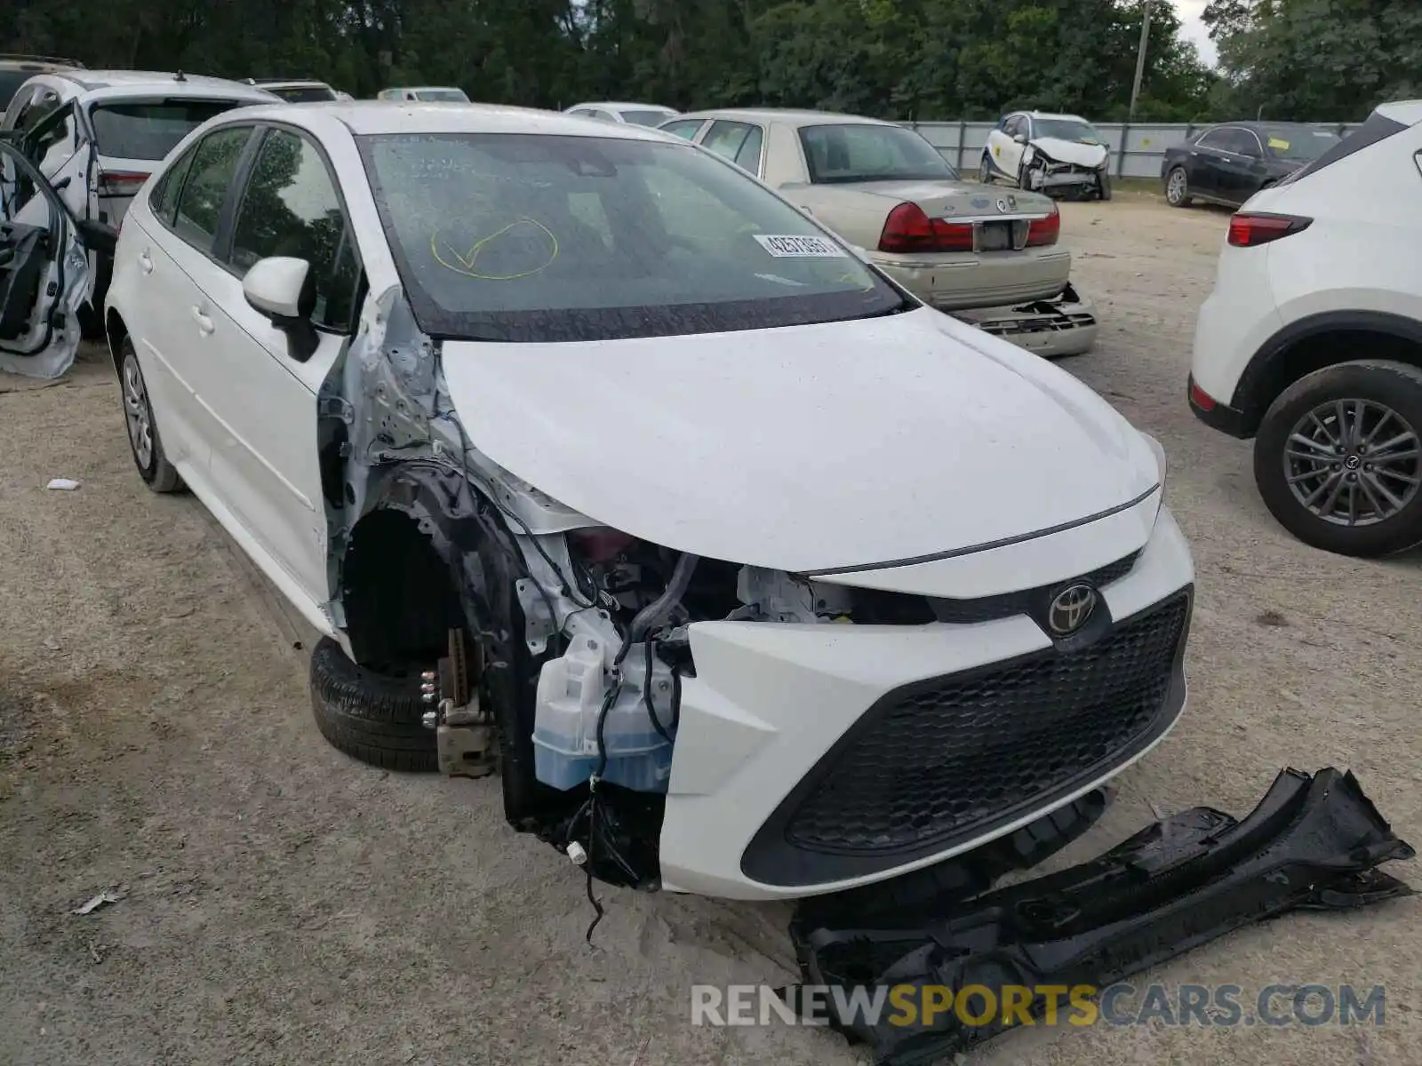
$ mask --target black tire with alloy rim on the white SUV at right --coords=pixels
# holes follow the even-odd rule
[[[1295,381],[1260,424],[1254,482],[1313,547],[1368,559],[1422,543],[1422,370],[1364,360]]]

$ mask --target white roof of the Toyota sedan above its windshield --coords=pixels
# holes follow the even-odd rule
[[[546,134],[667,142],[670,134],[650,126],[602,122],[503,104],[455,104],[401,99],[348,99],[311,104],[273,104],[243,108],[246,121],[274,119],[293,125],[334,118],[357,136],[378,134]]]

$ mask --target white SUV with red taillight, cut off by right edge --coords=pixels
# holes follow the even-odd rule
[[[1189,381],[1200,421],[1254,438],[1300,540],[1422,543],[1422,101],[1384,104],[1230,220]]]

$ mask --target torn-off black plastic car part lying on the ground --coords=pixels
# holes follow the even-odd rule
[[[829,996],[830,1025],[869,1043],[884,1066],[923,1066],[1003,1032],[1001,1012],[983,1025],[966,1025],[956,1009],[929,1025],[919,1016],[904,1025],[890,1011],[870,1018],[838,1005],[872,1002],[879,986],[907,985],[907,1002],[923,1003],[929,988],[937,1002],[950,992],[956,1002],[977,985],[997,1005],[1010,988],[1014,995],[1054,985],[1105,988],[1291,910],[1349,910],[1411,895],[1376,867],[1413,854],[1352,773],[1288,769],[1243,822],[1194,807],[1059,874],[967,903],[930,903],[872,927],[828,928],[796,915],[791,934],[806,985],[842,989]],[[801,1003],[799,991],[786,989],[786,1001]],[[980,998],[967,1011],[977,1019],[988,1002]],[[1039,1019],[1047,1008],[1037,995],[1027,1011]]]

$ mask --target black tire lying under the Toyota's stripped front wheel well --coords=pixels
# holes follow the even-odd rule
[[[341,645],[323,637],[311,651],[311,714],[333,748],[387,770],[435,770],[435,732],[424,725],[429,708],[419,692],[419,669],[377,674],[351,662]]]

